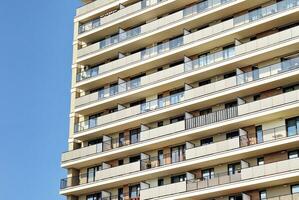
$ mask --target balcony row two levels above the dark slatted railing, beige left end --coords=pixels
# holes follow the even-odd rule
[[[163,70],[148,76],[141,77],[140,79],[136,79],[133,82],[122,83],[113,88],[107,88],[104,91],[100,90],[99,92],[82,96],[80,98],[77,98],[75,101],[76,111],[84,111],[85,113],[87,113],[90,109],[103,106],[102,102],[108,101],[108,98],[121,94],[126,95],[129,94],[128,92],[133,91],[139,92],[139,90],[141,90],[144,87],[157,87],[157,84],[170,78],[177,79],[177,77],[180,77],[188,73],[200,73],[201,70],[207,70],[208,68],[215,67],[216,64],[227,64],[223,61],[239,59],[241,56],[247,57],[248,53],[254,53],[257,49],[262,50],[264,48],[270,48],[273,45],[279,45],[281,42],[284,41],[285,43],[287,43],[287,41],[289,40],[298,38],[298,33],[299,26],[267,36],[265,38],[258,39],[256,41],[236,46],[229,50],[208,54],[206,57],[201,57],[197,60],[188,61],[184,65],[178,65],[167,70]],[[291,49],[289,48],[289,50]],[[166,78],[163,78],[164,75],[166,76]]]

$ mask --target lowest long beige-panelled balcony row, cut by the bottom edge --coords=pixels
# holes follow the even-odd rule
[[[201,197],[209,193],[209,189],[213,188],[215,190],[221,190],[224,185],[230,185],[231,191],[235,187],[239,187],[241,183],[247,182],[247,186],[260,188],[261,183],[271,184],[276,180],[284,179],[294,179],[293,176],[298,176],[299,170],[299,159],[289,159],[279,162],[274,162],[270,164],[265,164],[262,166],[247,167],[244,162],[242,163],[242,169],[236,171],[234,174],[219,173],[213,175],[211,178],[202,179],[191,179],[179,183],[164,185],[160,187],[153,187],[149,189],[143,189],[140,191],[140,198],[142,199],[164,199],[171,198],[175,196],[175,199],[185,199],[187,197]],[[289,174],[286,178],[285,173]],[[293,174],[292,174],[293,173]],[[274,180],[272,177],[275,175]],[[256,180],[259,179],[259,180]],[[251,180],[252,183],[250,183]],[[297,177],[298,180],[298,177]],[[258,182],[258,183],[256,183]],[[281,183],[275,183],[281,184]],[[244,187],[244,186],[242,186]],[[226,189],[227,190],[227,189]],[[222,192],[225,190],[222,190]],[[229,192],[228,191],[228,192]],[[212,192],[212,190],[211,190]]]

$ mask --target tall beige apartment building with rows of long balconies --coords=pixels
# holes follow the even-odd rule
[[[299,0],[82,0],[67,200],[299,200]]]

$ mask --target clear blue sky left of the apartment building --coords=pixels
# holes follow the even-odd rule
[[[62,200],[79,0],[1,0],[0,199]]]

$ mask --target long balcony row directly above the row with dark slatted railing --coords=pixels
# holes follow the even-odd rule
[[[222,81],[218,81],[202,87],[190,89],[182,93],[149,101],[138,106],[126,108],[112,114],[107,114],[98,117],[96,119],[80,122],[75,126],[75,131],[76,133],[78,133],[91,128],[102,126],[104,124],[111,123],[113,121],[119,121],[121,119],[130,118],[132,116],[137,116],[137,115],[143,116],[144,114],[155,110],[161,111],[161,109],[163,108],[175,106],[177,104],[198,99],[200,97],[205,97],[207,95],[213,95],[215,93],[221,94],[220,92],[227,91],[229,89],[233,89],[238,86],[245,86],[245,83],[254,83],[254,81],[258,81],[262,79],[271,80],[269,78],[279,74],[290,73],[291,75],[294,75],[294,73],[292,72],[298,70],[298,67],[299,67],[299,60],[298,58],[294,58],[292,60],[273,64],[252,72],[241,73],[237,77],[224,79]]]

